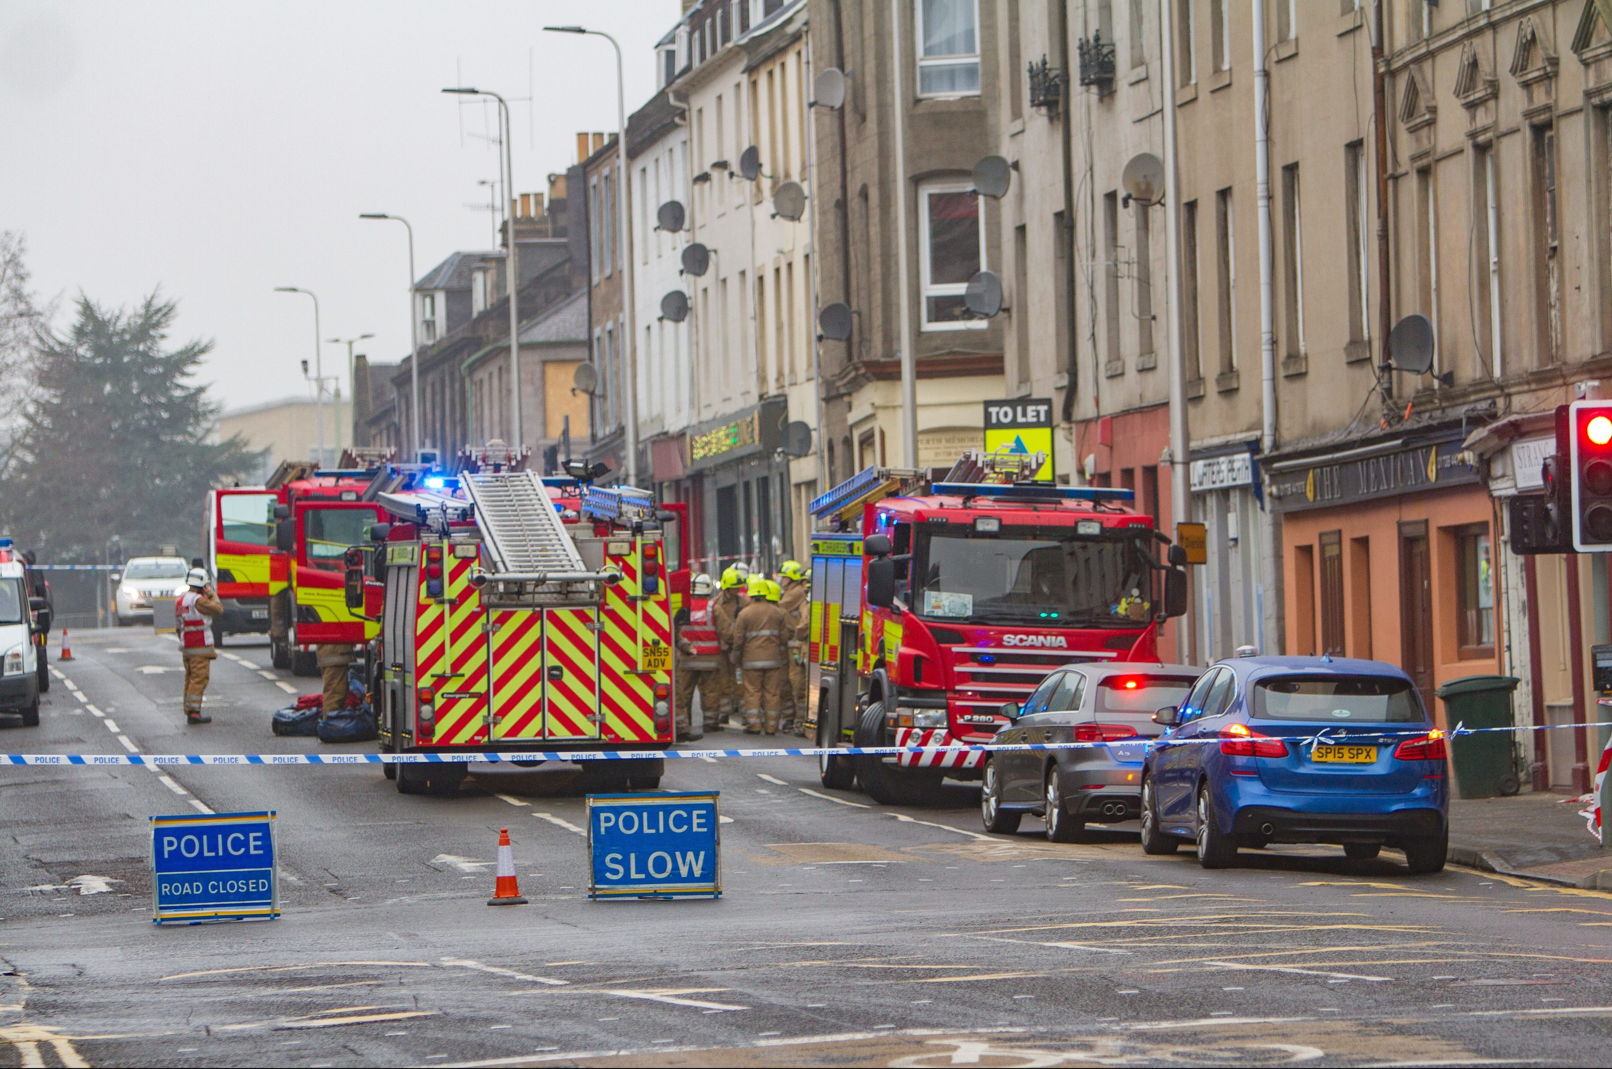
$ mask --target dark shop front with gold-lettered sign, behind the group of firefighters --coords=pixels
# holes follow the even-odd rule
[[[688,429],[679,482],[690,498],[677,500],[700,503],[696,571],[717,576],[742,559],[772,572],[783,563],[791,529],[787,419],[783,398],[771,398]]]

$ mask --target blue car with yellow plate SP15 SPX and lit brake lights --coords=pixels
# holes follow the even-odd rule
[[[1219,869],[1240,846],[1340,843],[1354,859],[1402,850],[1438,872],[1449,848],[1444,734],[1393,664],[1254,656],[1212,664],[1143,761],[1141,848],[1194,840]]]

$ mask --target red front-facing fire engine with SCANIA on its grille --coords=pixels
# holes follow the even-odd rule
[[[1185,551],[1132,490],[1027,480],[1041,460],[969,453],[935,482],[867,468],[811,503],[817,747],[988,743],[1001,706],[1062,664],[1159,659],[1159,624],[1186,611]],[[982,756],[824,755],[819,772],[916,801],[978,779]]]

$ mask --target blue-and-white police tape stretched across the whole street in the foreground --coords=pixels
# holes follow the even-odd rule
[[[1612,721],[1589,721],[1583,724],[1539,724],[1509,727],[1467,727],[1456,724],[1449,730],[1425,727],[1410,730],[1370,730],[1372,738],[1456,738],[1480,735],[1486,732],[1535,732],[1559,730],[1570,727],[1612,727]],[[1296,745],[1370,745],[1351,742],[1351,737],[1333,734],[1328,726],[1314,735],[1269,738],[1291,742]],[[297,766],[297,764],[540,764],[545,761],[648,761],[648,759],[721,759],[721,758],[899,758],[899,756],[938,756],[946,753],[1041,753],[1056,750],[1096,750],[1114,745],[1145,745],[1153,748],[1164,742],[1169,747],[1207,745],[1238,742],[1244,738],[1267,738],[1256,734],[1217,732],[1199,738],[1165,738],[1138,735],[1132,738],[1116,738],[1107,742],[1027,742],[1027,743],[951,743],[945,747],[766,747],[754,750],[506,750],[506,751],[471,751],[471,753],[3,753],[0,764],[13,766],[119,766],[119,764],[152,764],[152,766]],[[1354,735],[1352,738],[1361,738]]]

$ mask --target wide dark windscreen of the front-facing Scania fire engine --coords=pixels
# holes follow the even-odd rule
[[[1003,527],[999,535],[927,527],[916,609],[983,624],[1140,627],[1153,614],[1146,535]]]

